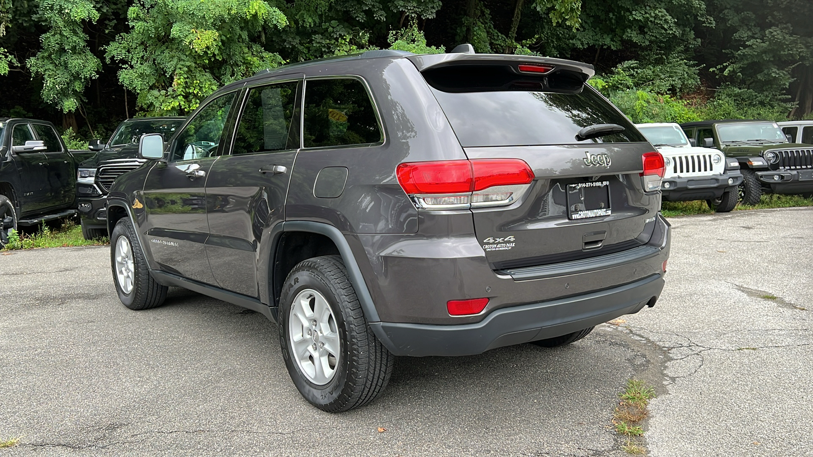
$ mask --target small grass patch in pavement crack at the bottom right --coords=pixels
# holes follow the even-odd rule
[[[612,424],[615,433],[626,437],[626,442],[621,446],[624,452],[635,455],[646,453],[646,448],[639,441],[644,435],[644,428],[639,422],[649,415],[647,406],[654,397],[655,391],[651,385],[635,379],[627,381],[626,389],[619,394],[620,401],[613,412]]]

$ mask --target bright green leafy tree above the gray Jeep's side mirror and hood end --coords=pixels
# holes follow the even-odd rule
[[[121,84],[147,114],[177,115],[222,85],[282,63],[261,45],[288,20],[262,0],[136,0],[128,24],[107,50]]]

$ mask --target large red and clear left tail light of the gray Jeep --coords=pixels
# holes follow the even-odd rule
[[[534,177],[520,159],[401,163],[396,176],[416,207],[433,210],[509,205]]]

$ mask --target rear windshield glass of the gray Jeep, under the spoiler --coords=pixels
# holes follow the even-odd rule
[[[509,66],[458,65],[424,72],[463,147],[644,142],[646,138],[580,75],[537,76]],[[593,124],[624,132],[576,140]]]

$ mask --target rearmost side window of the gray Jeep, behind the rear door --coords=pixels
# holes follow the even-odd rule
[[[305,83],[305,147],[368,145],[383,139],[370,96],[352,78]]]

